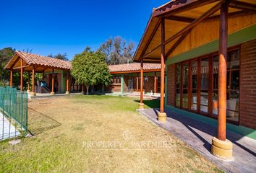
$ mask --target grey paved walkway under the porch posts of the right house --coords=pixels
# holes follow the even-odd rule
[[[159,123],[157,111],[153,109],[138,110],[155,124],[170,131],[202,156],[216,164],[225,172],[256,172],[256,141],[227,130],[227,138],[232,141],[232,161],[223,161],[210,154],[211,139],[216,136],[216,126],[203,123],[184,115],[167,110],[167,122]]]

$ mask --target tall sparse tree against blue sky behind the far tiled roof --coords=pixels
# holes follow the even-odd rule
[[[104,53],[108,65],[132,62],[135,44],[127,43],[122,37],[109,38],[98,51]]]

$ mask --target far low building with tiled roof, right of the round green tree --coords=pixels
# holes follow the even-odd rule
[[[140,92],[140,63],[127,63],[108,67],[112,74],[112,82],[110,86],[105,87],[105,92]],[[143,92],[145,94],[160,93],[160,64],[144,63],[143,71]]]

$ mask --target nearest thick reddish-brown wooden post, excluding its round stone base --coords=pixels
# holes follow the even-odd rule
[[[220,38],[219,38],[219,71],[218,71],[218,136],[221,141],[226,140],[226,55],[228,35],[227,3],[221,5]]]

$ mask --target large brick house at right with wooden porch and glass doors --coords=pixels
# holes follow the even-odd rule
[[[226,122],[256,129],[256,1],[169,1],[153,9],[134,61],[161,63],[159,121],[164,108],[218,121],[214,155],[232,156]]]

